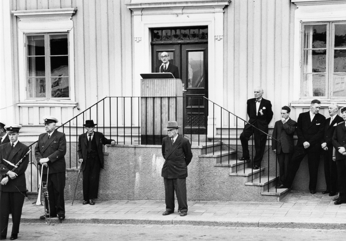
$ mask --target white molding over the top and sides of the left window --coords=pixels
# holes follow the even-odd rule
[[[26,100],[26,58],[25,34],[26,33],[69,33],[69,68],[70,68],[70,100],[75,101],[74,83],[74,31],[72,16],[77,8],[20,10],[12,11],[19,18],[18,22],[18,81],[19,102]]]

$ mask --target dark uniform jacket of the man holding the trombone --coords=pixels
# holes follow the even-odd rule
[[[40,134],[35,147],[35,157],[37,164],[39,164],[41,158],[49,159],[48,173],[59,173],[66,171],[65,154],[65,133],[55,130],[49,139],[47,132]],[[47,174],[47,168],[43,168],[43,174]]]

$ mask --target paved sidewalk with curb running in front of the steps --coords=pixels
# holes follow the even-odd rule
[[[75,201],[73,206],[67,201],[63,222],[346,229],[346,204],[334,205],[332,198],[293,190],[278,203],[190,201],[185,217],[176,212],[177,204],[173,214],[163,216],[164,201],[95,201],[95,205]],[[43,210],[27,200],[21,222],[44,222],[39,219]],[[51,220],[60,222],[57,217]]]

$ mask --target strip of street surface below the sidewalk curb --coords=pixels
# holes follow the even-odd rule
[[[149,224],[24,223],[18,240],[345,240],[346,230]],[[9,238],[9,237],[8,237]]]

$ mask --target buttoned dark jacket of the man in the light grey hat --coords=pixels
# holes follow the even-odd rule
[[[161,176],[164,178],[186,178],[188,165],[192,159],[191,144],[188,139],[178,135],[173,146],[171,137],[162,140],[163,163]]]

